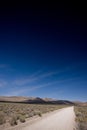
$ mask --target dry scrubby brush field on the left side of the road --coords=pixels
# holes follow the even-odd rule
[[[66,105],[47,105],[47,104],[22,104],[22,103],[0,103],[0,125],[7,120],[10,125],[18,124],[18,121],[24,123],[26,118],[35,115],[42,116],[43,113],[54,111]]]

